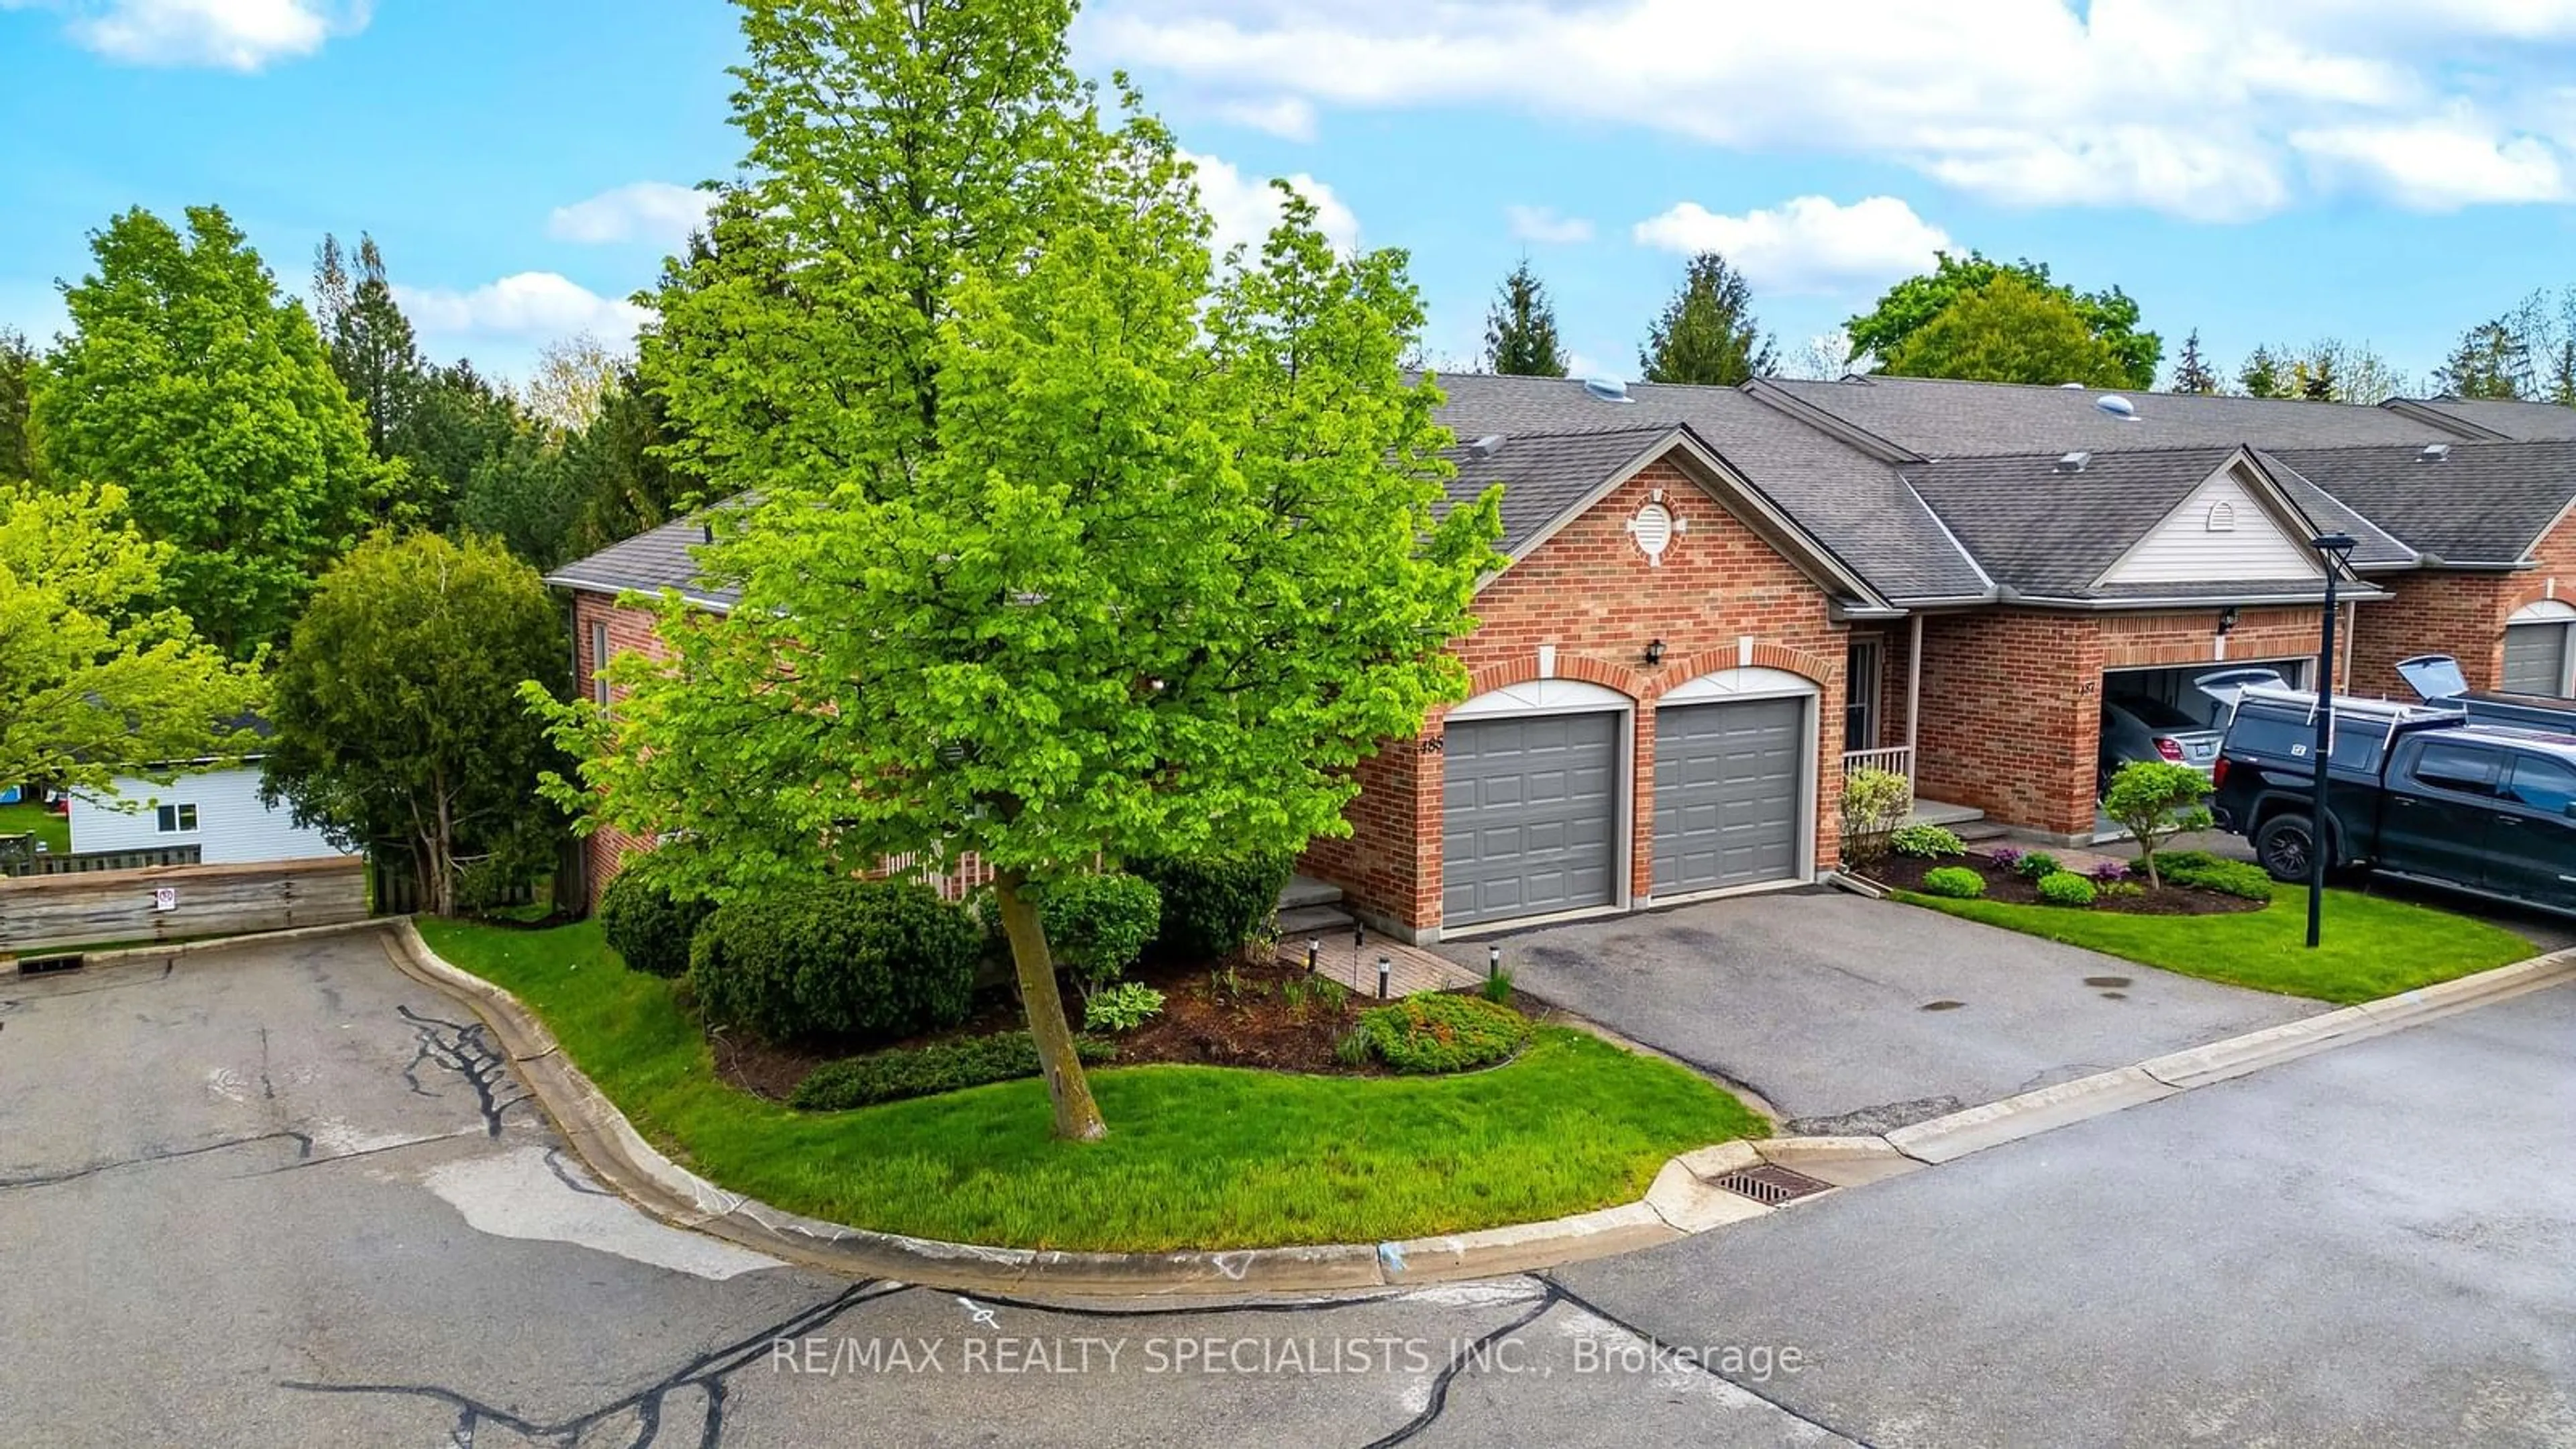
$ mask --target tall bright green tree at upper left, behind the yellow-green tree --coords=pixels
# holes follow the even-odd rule
[[[144,534],[178,544],[170,598],[250,657],[366,521],[384,482],[366,420],[222,209],[191,206],[185,235],[126,211],[90,253],[36,389],[46,469],[124,487]]]

